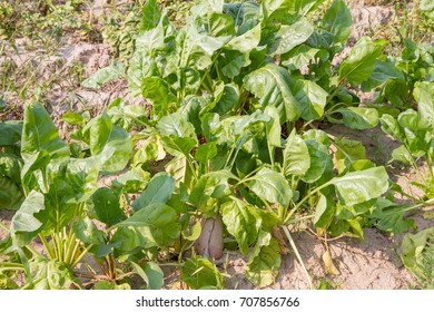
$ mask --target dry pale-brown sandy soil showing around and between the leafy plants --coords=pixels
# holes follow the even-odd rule
[[[354,1],[352,3],[356,4],[351,4],[354,27],[349,42],[353,45],[361,36],[372,35],[381,30],[395,14],[391,4],[371,7],[364,4],[364,2],[368,3],[368,1]],[[95,1],[93,13],[96,18],[105,12],[105,3],[103,0]],[[21,57],[16,59],[17,62],[34,57],[37,51],[23,49],[24,42],[17,41],[16,43],[21,49]],[[12,51],[11,55],[13,55]],[[42,70],[39,75],[46,77],[52,72],[59,74],[79,61],[85,66],[85,76],[90,76],[99,68],[107,66],[111,55],[110,47],[103,43],[66,40],[65,46],[58,49],[56,57],[41,60],[43,64],[40,67]],[[135,101],[138,105],[145,105],[142,99],[130,99],[127,84],[119,80],[106,85],[100,90],[79,87],[71,92],[59,87],[47,95],[47,107],[59,125],[61,134],[66,136],[68,129],[60,120],[62,114],[68,110],[81,111],[83,109],[91,109],[93,114],[97,114],[117,97],[125,98],[127,103]],[[363,101],[368,101],[371,97],[372,95],[362,95]],[[366,146],[367,155],[377,164],[387,163],[389,154],[397,147],[397,144],[385,136],[379,128],[366,131],[349,131],[342,126],[329,126],[327,130],[336,136],[362,140]],[[411,170],[404,173],[404,175],[400,170],[403,176],[397,177],[395,175],[397,172],[393,167],[389,166],[387,169],[392,178],[404,188],[408,188],[408,182],[415,178],[415,174]],[[396,199],[402,201],[402,198]],[[9,225],[12,215],[13,212],[0,209],[0,221],[6,225]],[[417,213],[413,218],[420,230],[434,226],[434,220],[425,220],[423,212]],[[326,271],[322,260],[326,251],[325,244],[308,231],[294,231],[292,235],[315,285],[351,290],[417,287],[417,282],[400,260],[402,236],[393,236],[375,228],[366,228],[364,231],[365,242],[351,237],[328,242],[333,262],[338,271],[338,274],[331,274]],[[0,228],[0,240],[4,237],[6,232]],[[246,256],[240,255],[239,252],[225,251],[223,259],[224,261],[219,263],[219,266],[221,270],[227,270],[230,276],[227,281],[228,289],[255,289],[243,273],[247,262]],[[176,281],[177,272],[168,271],[165,287],[178,287]],[[297,290],[307,287],[306,275],[290,251],[283,256],[279,274],[269,289]]]

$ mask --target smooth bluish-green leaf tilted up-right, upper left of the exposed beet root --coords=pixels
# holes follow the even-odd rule
[[[146,189],[132,202],[131,206],[139,211],[155,203],[166,204],[175,191],[175,178],[160,173],[149,181]]]

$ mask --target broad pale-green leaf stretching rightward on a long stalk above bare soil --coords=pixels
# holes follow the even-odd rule
[[[388,175],[384,167],[347,173],[331,182],[343,204],[352,206],[379,197],[388,189]]]

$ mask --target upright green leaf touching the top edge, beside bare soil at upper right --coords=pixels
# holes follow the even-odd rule
[[[334,36],[334,41],[345,46],[352,32],[352,13],[344,0],[335,0],[320,22],[320,28]]]

